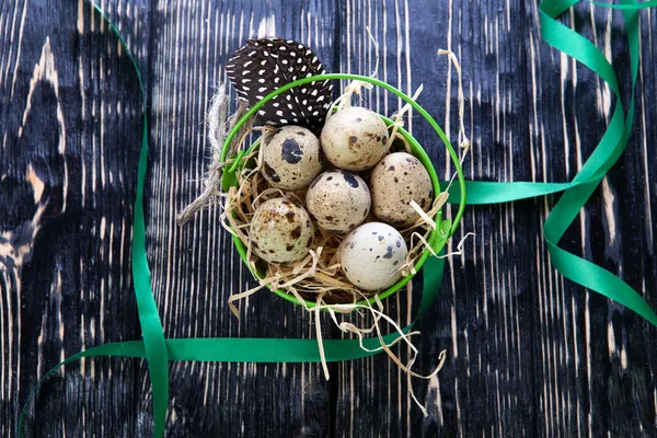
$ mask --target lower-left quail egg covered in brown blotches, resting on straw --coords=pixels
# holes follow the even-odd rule
[[[308,211],[286,198],[263,203],[251,220],[255,254],[269,263],[293,263],[308,255],[314,228]]]

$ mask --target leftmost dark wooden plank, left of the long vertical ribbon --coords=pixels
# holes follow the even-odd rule
[[[131,28],[134,49],[146,60],[145,5],[116,2],[107,11]],[[2,2],[0,28],[0,435],[7,437],[30,388],[50,367],[138,335],[128,254],[140,100],[116,38],[82,1]],[[134,387],[127,361],[67,366],[43,387],[28,435],[130,435]]]

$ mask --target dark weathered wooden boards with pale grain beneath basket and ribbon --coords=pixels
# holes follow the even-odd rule
[[[249,36],[314,47],[332,71],[369,73],[411,92],[456,137],[451,48],[464,71],[473,151],[468,175],[572,178],[604,130],[611,97],[584,67],[541,42],[525,1],[105,1],[146,76],[147,183],[153,289],[168,336],[311,336],[309,318],[263,292],[241,320],[226,304],[252,281],[219,211],[178,228],[208,157],[204,112],[221,65]],[[620,14],[578,5],[566,18],[627,66]],[[637,116],[626,153],[563,246],[619,273],[657,307],[655,11],[642,13]],[[37,378],[65,356],[136,339],[130,220],[140,101],[129,62],[89,4],[0,2],[0,436],[15,436]],[[621,72],[629,82],[629,72]],[[396,99],[374,91],[390,114]],[[423,120],[413,132],[443,169]],[[448,176],[446,170],[441,170]],[[655,436],[657,330],[549,267],[541,227],[555,197],[469,208],[465,255],[449,260],[441,298],[420,324],[428,372],[406,380],[384,357],[331,366],[173,364],[168,436]],[[416,288],[417,289],[417,288]],[[389,312],[407,322],[414,297]],[[331,333],[326,333],[331,335]],[[337,334],[332,333],[333,336]],[[146,367],[84,360],[43,387],[27,436],[148,436]]]

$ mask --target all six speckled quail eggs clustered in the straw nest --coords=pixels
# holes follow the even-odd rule
[[[306,207],[285,197],[261,204],[250,230],[254,253],[268,263],[303,260],[319,227],[348,233],[338,260],[357,288],[378,291],[395,284],[408,252],[397,229],[419,217],[411,200],[431,208],[434,191],[419,160],[389,153],[388,140],[381,117],[358,106],[333,114],[320,138],[300,126],[265,132],[262,174],[273,187],[307,191]]]

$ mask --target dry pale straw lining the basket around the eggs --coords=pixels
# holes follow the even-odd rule
[[[401,117],[399,115],[397,117]],[[391,141],[389,152],[406,150],[412,153],[411,147],[397,131],[399,119],[390,126]],[[270,129],[265,127],[264,129]],[[393,141],[394,140],[394,141]],[[307,189],[287,192],[272,187],[261,174],[262,149],[260,139],[252,148],[252,152],[241,159],[240,169],[235,176],[237,186],[230,187],[223,201],[222,224],[247,249],[246,258],[253,272],[264,272],[264,277],[258,281],[258,287],[246,292],[231,297],[231,302],[244,298],[258,289],[267,286],[270,289],[281,289],[297,299],[325,304],[348,304],[371,298],[377,292],[358,289],[341,270],[338,249],[347,233],[335,234],[322,230],[315,224],[315,237],[308,255],[295,264],[266,263],[260,260],[252,251],[252,240],[249,235],[251,220],[257,207],[268,199],[285,197],[297,205],[306,207]],[[440,193],[429,211],[423,211],[416,204],[414,208],[419,214],[416,222],[399,230],[406,241],[408,254],[405,263],[400,267],[402,276],[414,275],[414,265],[424,251],[430,251],[427,243],[429,233],[436,228],[431,219],[442,207],[447,193]],[[376,221],[371,216],[368,221]],[[434,253],[435,255],[435,253]]]

